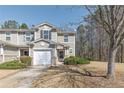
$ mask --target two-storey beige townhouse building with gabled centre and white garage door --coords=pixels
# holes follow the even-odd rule
[[[63,32],[49,23],[33,29],[0,29],[0,62],[31,56],[33,65],[56,64],[75,56],[75,32]]]

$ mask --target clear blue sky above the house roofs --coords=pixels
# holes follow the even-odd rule
[[[27,23],[30,27],[42,22],[49,22],[58,27],[65,27],[70,22],[80,22],[88,12],[79,6],[0,6],[0,23],[16,20]]]

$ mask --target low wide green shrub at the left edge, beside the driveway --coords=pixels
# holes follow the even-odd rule
[[[18,60],[8,61],[0,64],[0,69],[21,69],[26,68],[26,65]]]

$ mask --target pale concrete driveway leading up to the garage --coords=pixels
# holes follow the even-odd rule
[[[19,71],[18,73],[0,79],[0,88],[30,88],[32,81],[37,79],[47,67],[33,66]]]

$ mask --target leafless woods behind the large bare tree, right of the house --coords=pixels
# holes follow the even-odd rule
[[[91,18],[84,18],[85,24],[77,28],[76,56],[93,61],[108,61],[109,37],[100,25]],[[116,62],[124,63],[124,45],[119,47]]]

